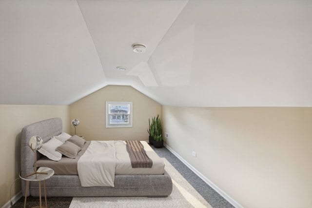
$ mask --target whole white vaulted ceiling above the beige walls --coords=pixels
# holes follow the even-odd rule
[[[312,106],[311,11],[306,0],[1,0],[0,104],[71,104],[117,84],[167,105]]]

